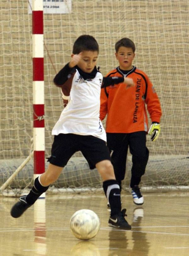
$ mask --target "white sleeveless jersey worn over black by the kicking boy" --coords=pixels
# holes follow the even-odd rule
[[[99,114],[102,79],[102,74],[97,72],[95,78],[84,80],[76,69],[70,100],[54,125],[52,135],[60,133],[92,135],[106,141],[106,132]]]

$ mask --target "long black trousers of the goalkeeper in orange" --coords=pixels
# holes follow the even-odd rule
[[[138,185],[144,175],[149,157],[146,147],[146,131],[132,133],[106,133],[107,146],[111,154],[112,165],[117,181],[125,177],[128,148],[132,154],[130,186]]]

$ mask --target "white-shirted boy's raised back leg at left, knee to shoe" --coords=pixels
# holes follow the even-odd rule
[[[11,209],[11,216],[13,218],[20,217],[27,210],[27,208],[35,203],[40,195],[47,191],[49,185],[58,179],[62,169],[63,167],[49,164],[47,171],[35,179],[34,185],[29,194],[20,196],[20,201],[17,202]]]

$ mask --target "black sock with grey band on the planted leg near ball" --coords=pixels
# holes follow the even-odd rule
[[[118,182],[116,180],[106,180],[103,182],[103,189],[110,204],[111,216],[121,212],[121,195]]]

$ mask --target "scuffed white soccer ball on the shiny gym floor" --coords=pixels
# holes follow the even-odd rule
[[[70,219],[70,228],[74,236],[81,240],[89,240],[96,236],[100,229],[98,215],[88,209],[75,212]]]

